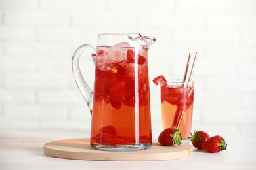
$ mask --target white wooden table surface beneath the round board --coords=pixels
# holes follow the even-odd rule
[[[85,161],[46,156],[43,146],[49,141],[89,137],[89,131],[0,129],[0,169],[256,169],[255,134],[242,131],[222,134],[228,148],[216,154],[193,148],[192,155],[181,160]]]

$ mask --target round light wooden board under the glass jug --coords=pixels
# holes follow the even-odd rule
[[[93,149],[89,139],[64,139],[45,144],[44,151],[48,156],[72,160],[160,161],[186,158],[190,156],[192,146],[185,143],[180,146],[161,146],[154,142],[145,150],[113,152]]]

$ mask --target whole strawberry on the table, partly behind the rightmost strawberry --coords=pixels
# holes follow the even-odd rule
[[[198,149],[202,149],[202,144],[210,138],[208,133],[204,131],[194,131],[194,134],[190,133],[190,141],[192,142],[193,146]]]

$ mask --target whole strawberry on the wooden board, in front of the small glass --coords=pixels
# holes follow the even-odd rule
[[[181,145],[181,140],[181,133],[179,133],[179,129],[176,129],[176,127],[165,129],[158,137],[158,142],[163,146]]]

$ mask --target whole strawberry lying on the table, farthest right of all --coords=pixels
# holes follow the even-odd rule
[[[202,144],[202,148],[211,153],[226,150],[226,146],[227,144],[225,139],[219,135],[211,137]]]

